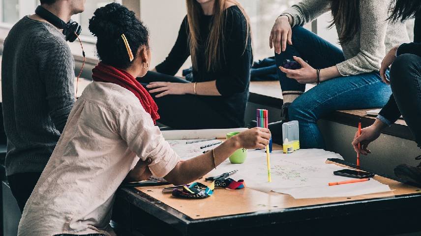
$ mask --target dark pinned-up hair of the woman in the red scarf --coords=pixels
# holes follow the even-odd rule
[[[119,3],[98,8],[89,20],[89,30],[97,37],[96,51],[105,64],[126,69],[130,62],[121,34],[127,38],[133,56],[141,46],[149,47],[149,31],[135,13]]]

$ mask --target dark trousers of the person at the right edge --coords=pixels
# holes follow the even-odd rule
[[[390,81],[396,105],[421,148],[421,57],[398,56],[391,66]]]

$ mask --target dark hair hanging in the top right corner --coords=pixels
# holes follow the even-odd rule
[[[420,0],[393,0],[389,8],[391,16],[388,20],[403,23],[410,18],[414,18],[415,14],[421,10],[420,3]]]

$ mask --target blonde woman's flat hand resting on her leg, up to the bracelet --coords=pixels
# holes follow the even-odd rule
[[[169,94],[187,94],[193,93],[193,83],[171,83],[171,82],[151,82],[146,88],[150,93],[157,93],[155,97],[163,97]]]

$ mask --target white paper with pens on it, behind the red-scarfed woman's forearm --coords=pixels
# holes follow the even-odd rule
[[[167,142],[170,144],[171,148],[173,148],[176,151],[176,153],[179,154],[181,160],[188,160],[190,158],[199,156],[203,154],[203,151],[216,148],[220,144],[213,145],[209,148],[201,149],[200,147],[202,146],[221,142],[218,140],[209,140],[209,141],[203,141],[199,143],[186,144],[186,142],[194,141],[194,140],[197,140],[197,139],[177,139],[177,140],[167,140]]]

